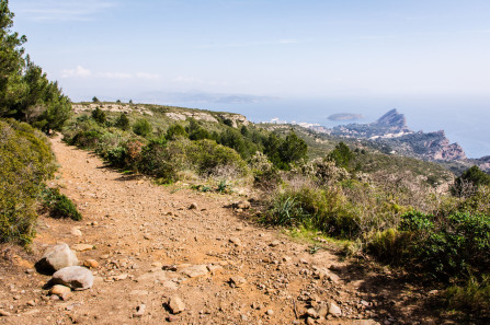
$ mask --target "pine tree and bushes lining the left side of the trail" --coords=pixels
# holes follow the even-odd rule
[[[11,31],[12,18],[8,1],[0,1],[0,242],[26,245],[49,190],[45,182],[56,171],[44,134],[61,129],[71,103],[24,54],[26,38]],[[58,218],[78,213],[67,197],[57,196],[44,204],[46,210]]]

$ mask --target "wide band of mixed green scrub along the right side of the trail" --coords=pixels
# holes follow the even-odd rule
[[[452,307],[489,311],[490,183],[478,167],[455,178],[434,163],[339,141],[323,151],[315,144],[317,158],[308,159],[312,140],[300,130],[172,121],[158,114],[166,109],[103,121],[80,115],[66,141],[159,183],[185,181],[202,191],[224,182],[253,188],[266,198],[258,217],[264,225],[344,240],[349,254],[446,283]],[[136,131],[141,125],[151,127]]]

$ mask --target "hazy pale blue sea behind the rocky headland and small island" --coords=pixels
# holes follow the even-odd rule
[[[403,114],[407,126],[424,132],[444,130],[449,142],[459,143],[468,158],[490,155],[490,98],[460,97],[349,97],[270,98],[237,103],[160,103],[181,107],[231,112],[254,123],[308,123],[326,127],[372,123],[392,108]],[[357,120],[330,120],[332,114],[361,114]]]

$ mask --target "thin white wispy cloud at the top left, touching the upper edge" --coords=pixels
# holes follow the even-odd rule
[[[34,21],[90,21],[95,13],[115,5],[98,0],[30,0],[12,5],[12,9]]]

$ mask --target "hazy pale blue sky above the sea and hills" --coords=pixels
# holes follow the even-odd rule
[[[72,100],[149,91],[486,96],[488,0],[11,0]]]

